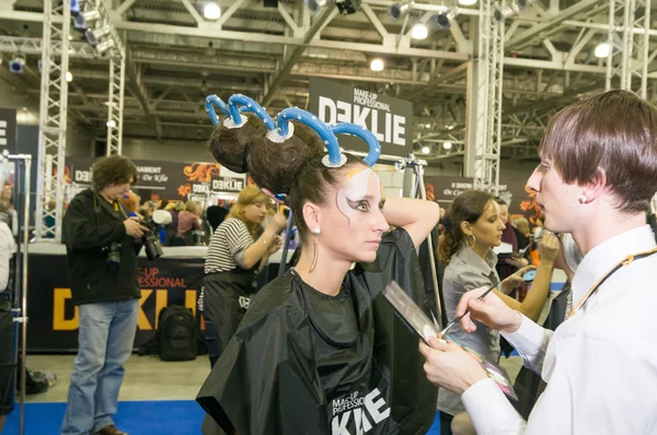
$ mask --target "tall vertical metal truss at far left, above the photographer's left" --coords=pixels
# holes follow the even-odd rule
[[[36,237],[42,240],[61,239],[70,20],[70,0],[44,1],[38,120],[38,174],[43,181],[37,184],[35,216]],[[53,199],[55,209],[44,208],[44,203]],[[55,220],[54,227],[44,225],[46,216]]]

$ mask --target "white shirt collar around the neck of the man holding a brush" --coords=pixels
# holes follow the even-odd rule
[[[631,254],[655,247],[650,225],[626,231],[591,249],[581,260],[573,278],[573,301],[577,303],[584,294],[614,264]]]

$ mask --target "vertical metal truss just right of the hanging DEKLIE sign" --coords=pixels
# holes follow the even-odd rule
[[[493,17],[493,1],[480,1],[474,188],[497,195],[502,148],[504,21]]]

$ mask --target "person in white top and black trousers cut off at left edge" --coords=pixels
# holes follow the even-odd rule
[[[9,227],[9,210],[0,204],[0,433],[7,415],[13,410],[16,355],[9,284],[10,260],[16,245]]]

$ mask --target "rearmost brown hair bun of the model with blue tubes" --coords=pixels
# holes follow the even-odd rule
[[[238,174],[249,171],[247,151],[260,146],[267,132],[267,128],[257,116],[242,116],[246,117],[246,124],[241,128],[228,128],[223,122],[219,122],[210,136],[210,151],[217,162]]]

